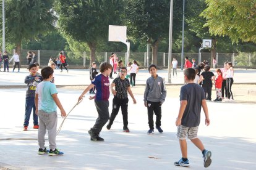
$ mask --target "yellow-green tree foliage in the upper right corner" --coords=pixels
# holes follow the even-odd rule
[[[252,0],[207,0],[202,16],[211,34],[229,36],[233,42],[256,42],[256,5]]]

